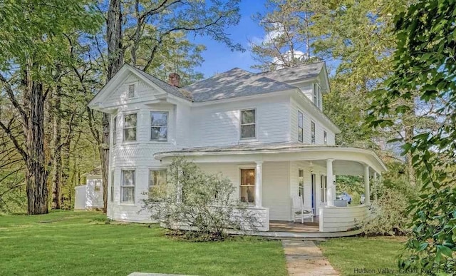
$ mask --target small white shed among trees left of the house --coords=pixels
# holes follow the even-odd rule
[[[96,210],[103,208],[103,180],[101,168],[85,173],[86,185],[75,187],[74,210]]]

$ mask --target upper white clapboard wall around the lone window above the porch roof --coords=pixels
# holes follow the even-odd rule
[[[239,114],[242,109],[257,110],[257,138],[242,140]],[[192,146],[237,143],[288,142],[289,98],[271,97],[192,108]]]

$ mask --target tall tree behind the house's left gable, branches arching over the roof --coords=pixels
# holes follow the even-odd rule
[[[143,71],[151,70],[152,65],[157,65],[154,63],[157,53],[167,51],[164,46],[169,44],[166,42],[177,45],[182,42],[182,37],[177,39],[177,34],[205,35],[226,44],[232,50],[244,50],[240,44],[234,44],[224,30],[239,22],[239,0],[110,0],[107,14],[108,56],[104,63],[106,82],[117,73],[125,57],[130,65]],[[92,115],[89,111],[89,116]],[[108,204],[109,118],[109,114],[103,113],[103,130],[101,136],[95,137],[100,146],[103,210],[106,210]]]

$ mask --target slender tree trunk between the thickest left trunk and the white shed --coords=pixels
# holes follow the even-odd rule
[[[62,155],[59,145],[61,143],[61,87],[57,86],[54,95],[53,115],[53,152],[52,160],[52,209],[61,209],[61,172]]]

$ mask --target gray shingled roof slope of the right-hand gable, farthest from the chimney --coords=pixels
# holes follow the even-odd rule
[[[259,73],[259,75],[266,78],[272,78],[276,81],[304,81],[306,78],[315,78],[321,72],[324,62],[316,62],[304,64],[301,66],[279,69],[276,71],[269,71]]]

